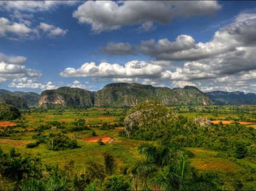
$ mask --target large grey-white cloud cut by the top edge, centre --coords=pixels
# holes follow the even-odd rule
[[[175,17],[212,15],[220,8],[217,1],[86,1],[73,12],[73,17],[101,33],[145,21],[169,24]]]

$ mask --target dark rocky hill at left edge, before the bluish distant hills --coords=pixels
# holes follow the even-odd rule
[[[29,107],[27,107],[27,101],[24,98],[13,96],[11,94],[4,94],[0,96],[0,103],[10,104],[18,109],[29,109]]]

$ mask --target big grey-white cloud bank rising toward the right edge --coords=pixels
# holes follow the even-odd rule
[[[243,47],[256,45],[256,14],[239,14],[235,21],[216,31],[213,39],[206,43],[195,43],[191,36],[180,35],[176,41],[154,39],[142,41],[137,49],[145,55],[158,60],[167,61],[198,61],[213,58],[230,52],[241,52]]]

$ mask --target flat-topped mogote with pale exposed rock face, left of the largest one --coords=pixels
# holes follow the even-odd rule
[[[93,93],[80,88],[61,87],[57,90],[45,90],[40,94],[39,107],[91,107]]]

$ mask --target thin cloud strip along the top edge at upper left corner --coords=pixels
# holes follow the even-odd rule
[[[0,1],[1,9],[7,11],[49,11],[57,8],[59,5],[75,5],[79,1]]]

